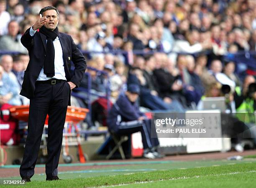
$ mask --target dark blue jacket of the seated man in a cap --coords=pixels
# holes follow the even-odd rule
[[[108,113],[107,125],[109,130],[116,132],[120,122],[137,120],[141,116],[145,114],[139,110],[138,104],[130,102],[125,94],[121,94]]]

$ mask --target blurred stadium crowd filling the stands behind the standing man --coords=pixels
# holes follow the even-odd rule
[[[185,112],[203,96],[223,96],[222,84],[236,112],[255,83],[256,0],[0,0],[0,105],[28,104],[19,96],[29,61],[20,37],[45,6],[59,10],[59,32],[87,57],[81,87],[89,75],[91,91],[108,87],[112,103],[136,84],[141,107]]]

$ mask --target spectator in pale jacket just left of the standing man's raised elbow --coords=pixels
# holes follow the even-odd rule
[[[20,42],[21,35],[18,32],[18,22],[15,20],[10,21],[8,23],[8,35],[2,36],[0,39],[0,50],[28,53],[27,49]]]

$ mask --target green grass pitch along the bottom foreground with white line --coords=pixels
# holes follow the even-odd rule
[[[129,163],[128,163],[129,164]],[[8,169],[7,169],[8,170]],[[254,188],[256,160],[242,161],[163,161],[159,163],[111,166],[90,170],[60,172],[60,181],[45,181],[34,175],[26,185],[1,185],[7,188]],[[0,179],[19,179],[0,178]]]

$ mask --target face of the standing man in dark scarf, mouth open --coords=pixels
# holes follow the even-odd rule
[[[59,17],[57,15],[56,10],[46,10],[42,16],[46,16],[47,18],[44,27],[50,30],[54,30],[57,27],[59,23]]]

